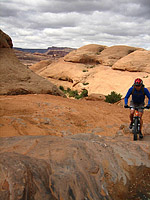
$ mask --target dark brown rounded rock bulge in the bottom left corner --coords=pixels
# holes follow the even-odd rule
[[[49,188],[50,165],[20,153],[0,154],[0,199],[56,200]]]

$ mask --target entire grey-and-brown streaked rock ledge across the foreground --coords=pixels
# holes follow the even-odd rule
[[[149,148],[84,133],[1,138],[0,199],[149,199]]]

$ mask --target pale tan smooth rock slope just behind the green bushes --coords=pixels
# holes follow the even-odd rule
[[[65,62],[48,65],[40,73],[40,76],[48,79],[57,87],[63,86],[81,92],[88,90],[88,94],[97,93],[108,95],[112,91],[125,95],[128,88],[133,85],[135,78],[142,78],[145,86],[150,85],[150,76],[146,72],[134,72],[113,70],[109,66]]]

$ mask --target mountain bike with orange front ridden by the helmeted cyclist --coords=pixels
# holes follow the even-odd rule
[[[133,108],[128,106],[127,108]],[[147,109],[147,107],[142,107],[142,109]],[[138,139],[138,135],[141,131],[141,118],[139,117],[139,107],[134,107],[135,113],[133,117],[133,125],[132,125],[132,133],[133,133],[133,140],[136,141]]]

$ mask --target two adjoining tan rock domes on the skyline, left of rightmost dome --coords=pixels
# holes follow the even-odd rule
[[[102,64],[112,66],[116,61],[140,48],[130,46],[112,46],[89,44],[70,52],[64,61],[84,64]]]

